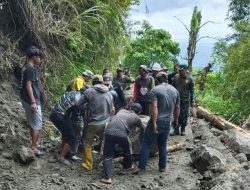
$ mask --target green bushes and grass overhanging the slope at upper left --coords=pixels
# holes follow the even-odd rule
[[[54,55],[48,59],[49,65],[43,70],[47,73],[46,80],[52,94],[61,95],[65,86],[86,68],[101,73],[106,67],[117,67],[127,43],[124,19],[130,5],[138,2],[36,1],[33,15],[37,15],[38,20],[43,19],[43,26],[38,30],[52,39],[44,43]]]

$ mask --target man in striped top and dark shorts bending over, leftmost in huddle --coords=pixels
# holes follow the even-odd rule
[[[81,95],[80,91],[66,92],[50,114],[50,120],[62,134],[62,151],[58,162],[64,165],[71,164],[65,159],[65,155],[69,153],[72,148],[76,147],[78,143],[76,135],[77,129],[73,124],[74,119],[70,116],[72,112],[74,112],[74,109],[76,109],[76,103]]]

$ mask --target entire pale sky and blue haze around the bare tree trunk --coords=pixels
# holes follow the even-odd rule
[[[212,21],[201,28],[201,39],[197,44],[197,54],[194,67],[203,68],[211,61],[211,53],[216,39],[226,37],[231,33],[226,20],[228,10],[227,0],[141,0],[139,6],[133,6],[130,19],[133,21],[147,20],[154,28],[162,28],[170,32],[172,39],[180,44],[179,61],[185,63],[188,43],[188,32],[183,24],[175,17],[190,25],[192,12],[195,6],[201,10],[202,23]],[[214,39],[216,38],[216,39]]]

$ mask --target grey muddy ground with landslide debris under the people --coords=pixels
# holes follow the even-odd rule
[[[58,141],[48,138],[42,132],[41,142],[47,147],[46,155],[35,158],[28,164],[21,163],[17,152],[20,146],[30,146],[29,131],[25,126],[25,116],[14,78],[0,83],[0,189],[250,189],[249,162],[235,159],[235,151],[228,148],[221,136],[212,133],[214,128],[203,120],[191,118],[185,137],[169,137],[168,145],[186,143],[182,150],[168,154],[168,166],[165,173],[158,172],[158,158],[151,158],[147,172],[132,175],[121,172],[120,164],[114,165],[112,185],[103,185],[99,179],[103,175],[98,154],[95,154],[94,170],[84,171],[81,161],[67,167],[56,162],[55,156],[60,149]],[[46,114],[45,114],[46,115]],[[46,120],[46,117],[44,117]],[[47,123],[47,122],[46,122]],[[47,124],[46,124],[47,125]],[[49,127],[47,126],[46,129]],[[212,130],[212,132],[211,132]],[[48,131],[48,130],[47,130]],[[217,131],[217,133],[219,133]],[[222,132],[224,133],[224,132]],[[218,150],[225,160],[223,167],[216,160],[205,167],[206,160],[191,160],[190,153],[201,146]],[[204,148],[202,148],[204,149]],[[82,155],[79,154],[81,157]],[[211,157],[213,159],[214,157]],[[209,159],[209,160],[211,160]],[[201,162],[199,162],[201,161]],[[218,161],[218,162],[217,162]],[[198,165],[197,165],[198,163]],[[218,164],[219,163],[219,164]],[[212,165],[214,166],[212,167]],[[203,167],[204,169],[204,167]],[[229,172],[229,173],[228,173]]]

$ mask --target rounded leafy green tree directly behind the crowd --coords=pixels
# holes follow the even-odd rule
[[[142,29],[136,32],[135,39],[131,39],[124,65],[132,66],[134,71],[139,65],[150,66],[152,62],[170,66],[178,62],[176,56],[179,52],[179,44],[171,39],[169,32],[153,29],[147,21],[143,21]]]

